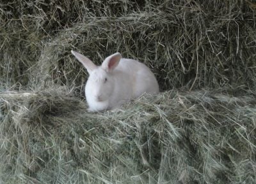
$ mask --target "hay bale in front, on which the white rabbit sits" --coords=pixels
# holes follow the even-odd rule
[[[255,93],[143,96],[87,113],[51,92],[0,94],[4,183],[255,182]]]

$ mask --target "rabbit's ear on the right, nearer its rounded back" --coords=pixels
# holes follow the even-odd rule
[[[113,71],[115,67],[118,65],[120,59],[122,59],[122,55],[119,52],[116,52],[112,55],[109,55],[103,62],[102,62],[102,68],[106,70],[107,72]]]

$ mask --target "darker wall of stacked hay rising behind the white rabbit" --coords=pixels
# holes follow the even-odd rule
[[[162,90],[235,84],[252,88],[256,81],[252,4],[205,0],[2,4],[1,85],[33,89],[56,83],[83,85],[86,74],[70,55],[73,49],[98,63],[116,51],[139,59],[156,73]]]

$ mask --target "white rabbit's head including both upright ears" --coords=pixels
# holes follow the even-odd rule
[[[72,54],[83,64],[89,73],[88,80],[86,82],[86,98],[93,99],[96,102],[108,101],[109,96],[113,94],[115,90],[115,78],[113,76],[113,70],[122,55],[120,53],[114,53],[107,57],[101,66],[93,64],[92,60],[88,59],[80,53],[71,51]]]

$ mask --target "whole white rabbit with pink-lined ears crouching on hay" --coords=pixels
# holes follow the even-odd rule
[[[144,92],[159,92],[154,74],[137,60],[122,59],[122,55],[116,52],[107,57],[101,66],[96,66],[81,53],[71,52],[89,73],[85,86],[88,111],[111,110]]]

